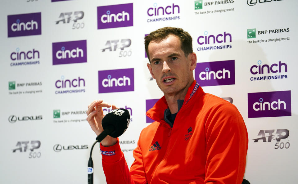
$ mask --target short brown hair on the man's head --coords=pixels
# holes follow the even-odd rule
[[[167,38],[170,34],[173,34],[179,38],[181,49],[184,52],[185,57],[187,57],[189,53],[192,53],[192,37],[189,33],[187,33],[181,28],[164,27],[151,32],[145,37],[145,50],[150,63],[151,61],[148,53],[149,43],[151,41],[162,41],[163,39]]]

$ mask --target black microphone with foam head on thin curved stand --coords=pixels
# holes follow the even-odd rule
[[[111,137],[119,137],[128,128],[130,122],[129,111],[126,109],[114,109],[105,115],[102,119],[103,131],[96,137],[90,151],[90,158],[88,161],[88,184],[93,184],[93,160],[92,150],[97,142],[101,142],[107,135]]]

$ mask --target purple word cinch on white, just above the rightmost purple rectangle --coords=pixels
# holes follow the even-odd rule
[[[281,61],[278,61],[277,63],[274,63],[272,65],[261,65],[262,61],[258,61],[258,65],[252,65],[251,66],[251,74],[270,74],[270,73],[281,73],[282,68],[284,69],[284,72],[288,71],[288,67],[286,63],[282,63]],[[282,67],[283,66],[283,67]],[[265,72],[264,72],[265,71]]]

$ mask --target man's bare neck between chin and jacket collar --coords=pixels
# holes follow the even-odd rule
[[[181,91],[173,94],[164,94],[165,100],[167,101],[167,104],[169,106],[169,110],[171,114],[175,114],[178,112],[178,104],[177,100],[184,100],[185,96],[187,94],[188,88],[192,85],[193,80],[186,85],[185,88],[183,88]]]

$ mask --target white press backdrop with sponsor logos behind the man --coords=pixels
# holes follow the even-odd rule
[[[97,29],[97,7],[126,3],[133,3],[133,11],[130,13],[133,26]],[[179,6],[179,11],[178,7],[175,7],[173,12],[174,5]],[[169,14],[149,16],[147,13],[149,8],[167,6],[171,7],[167,9]],[[235,61],[235,84],[205,86],[203,89],[219,97],[232,98],[233,104],[245,120],[249,135],[245,178],[252,184],[295,183],[298,179],[298,159],[295,154],[298,150],[298,89],[295,82],[298,65],[297,7],[298,2],[291,0],[2,1],[1,183],[87,183],[87,162],[96,135],[85,120],[84,111],[87,110],[88,104],[96,99],[104,99],[130,110],[131,123],[119,138],[121,149],[130,166],[134,160],[132,150],[136,147],[139,133],[149,124],[146,123],[145,116],[146,100],[158,99],[163,95],[155,81],[150,79],[143,38],[145,34],[164,26],[181,27],[192,35],[198,63]],[[119,6],[117,8],[119,9]],[[9,15],[35,12],[41,12],[41,34],[8,36],[11,32],[8,26]],[[152,9],[149,10],[149,14],[151,12],[153,13]],[[167,17],[174,18],[166,20]],[[56,24],[56,21],[63,19],[64,21]],[[248,35],[251,36],[248,29],[256,30],[255,38],[248,38]],[[231,34],[231,42],[229,37],[225,43],[200,45],[197,42],[199,36],[216,36],[224,32]],[[128,42],[121,43],[124,39],[130,40],[131,44],[127,46]],[[84,50],[84,54],[87,56],[87,62],[53,65],[52,43],[77,40],[86,40],[87,50]],[[119,40],[118,43],[115,40]],[[264,42],[254,43],[258,40]],[[104,48],[109,47],[109,41],[111,50],[106,49],[103,52]],[[115,44],[117,47],[114,51]],[[126,47],[121,50],[124,45]],[[231,45],[231,48],[197,49],[221,45]],[[12,60],[15,54],[11,59],[13,52],[28,53],[33,50],[39,53],[34,59]],[[30,57],[30,53],[28,56]],[[30,61],[39,62],[24,64]],[[260,61],[262,65],[269,66],[281,61],[287,65],[287,71],[281,68],[280,73],[251,74],[251,67],[258,65]],[[21,62],[24,63],[13,64]],[[101,85],[98,71],[128,68],[134,69],[133,91],[98,92],[98,85]],[[251,77],[269,75],[287,75],[287,78],[251,80]],[[84,79],[84,84],[81,81],[80,87],[76,86],[76,80],[71,87],[62,89],[55,86],[57,80],[72,81],[79,78]],[[58,87],[59,84],[58,82]],[[77,91],[63,94],[57,92],[63,90]],[[248,118],[248,93],[279,91],[291,91],[291,116],[264,115],[260,118]],[[287,129],[289,133],[283,132],[281,135],[288,137],[274,139],[274,136],[278,138],[279,135],[275,132],[278,133],[279,129]],[[254,141],[262,136],[266,137],[265,140]],[[269,141],[272,137],[272,141]],[[106,183],[98,145],[93,150],[93,162],[94,183]]]

